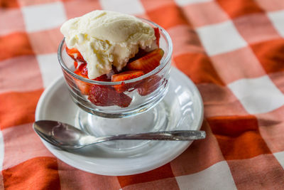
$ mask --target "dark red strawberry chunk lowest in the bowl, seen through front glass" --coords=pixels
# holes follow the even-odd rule
[[[128,107],[132,98],[124,93],[117,93],[111,86],[92,85],[89,90],[88,99],[97,106],[118,105],[119,107]]]

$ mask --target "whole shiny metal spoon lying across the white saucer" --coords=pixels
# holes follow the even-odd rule
[[[107,137],[94,137],[78,130],[72,125],[58,121],[40,120],[33,123],[33,130],[45,141],[62,149],[79,149],[90,144],[122,139],[148,139],[186,141],[204,139],[206,133],[196,130],[178,130],[164,132],[147,132],[140,134],[116,134]]]

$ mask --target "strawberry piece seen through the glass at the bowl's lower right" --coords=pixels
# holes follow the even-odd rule
[[[145,96],[153,93],[160,86],[160,79],[159,75],[153,75],[144,79],[139,88],[137,88],[139,95]]]

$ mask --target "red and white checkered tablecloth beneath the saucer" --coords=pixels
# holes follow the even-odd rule
[[[0,0],[0,189],[284,189],[283,0]],[[197,85],[207,138],[143,174],[101,176],[61,162],[33,132],[62,75],[62,22],[94,9],[163,26],[173,65]]]

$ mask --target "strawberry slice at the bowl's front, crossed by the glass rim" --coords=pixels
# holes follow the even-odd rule
[[[141,75],[144,75],[144,72],[141,70],[131,70],[131,71],[125,71],[119,74],[115,74],[111,76],[111,82],[119,82],[124,80],[131,80],[133,78],[138,78]],[[124,91],[128,90],[129,88],[132,88],[134,86],[134,83],[121,83],[121,85],[114,85],[114,88],[118,93],[123,93]]]

